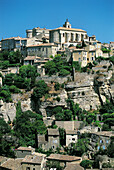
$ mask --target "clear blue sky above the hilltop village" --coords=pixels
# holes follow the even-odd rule
[[[66,18],[73,28],[114,41],[114,0],[0,0],[0,40],[26,36],[26,29],[60,27]]]

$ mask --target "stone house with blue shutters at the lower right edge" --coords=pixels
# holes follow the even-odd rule
[[[106,149],[110,144],[112,136],[114,136],[113,131],[100,131],[91,133],[90,143],[93,145],[97,144],[97,150],[99,150],[100,147],[102,149]]]

